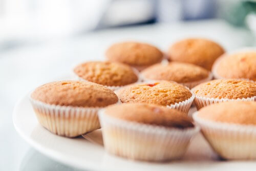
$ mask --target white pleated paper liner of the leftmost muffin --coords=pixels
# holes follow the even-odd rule
[[[83,108],[47,104],[31,98],[38,122],[53,134],[76,137],[100,128],[98,111],[102,108]],[[118,101],[117,103],[120,103]]]

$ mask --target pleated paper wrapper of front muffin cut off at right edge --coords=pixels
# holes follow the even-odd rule
[[[193,119],[219,156],[230,160],[256,159],[256,126],[214,122],[197,115],[195,112]]]

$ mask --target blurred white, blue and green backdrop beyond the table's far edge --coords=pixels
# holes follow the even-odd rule
[[[241,0],[0,0],[0,50],[179,20],[223,18],[256,32],[255,11],[255,1]]]

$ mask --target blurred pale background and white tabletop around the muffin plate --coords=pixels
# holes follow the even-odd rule
[[[227,51],[255,46],[256,1],[0,0],[0,170],[76,170],[39,154],[14,130],[14,105],[34,87],[63,78],[79,61],[103,60],[116,41],[166,51],[191,36]]]

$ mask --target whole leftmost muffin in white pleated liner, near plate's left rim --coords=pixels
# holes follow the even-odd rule
[[[99,109],[118,102],[114,92],[86,81],[44,84],[30,95],[39,123],[50,132],[76,137],[99,129]]]

